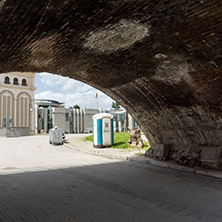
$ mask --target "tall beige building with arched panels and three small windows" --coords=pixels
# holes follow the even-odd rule
[[[0,127],[34,131],[35,73],[0,74]]]

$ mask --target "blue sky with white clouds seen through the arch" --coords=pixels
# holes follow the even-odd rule
[[[57,100],[65,103],[67,108],[79,105],[80,108],[97,109],[98,100],[98,108],[105,110],[111,108],[114,101],[101,91],[80,81],[46,72],[36,73],[35,86],[35,99]]]

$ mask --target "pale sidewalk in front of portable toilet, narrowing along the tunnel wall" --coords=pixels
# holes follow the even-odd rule
[[[94,148],[93,143],[90,141],[83,141],[83,138],[86,135],[81,135],[78,138],[67,136],[67,141],[65,145],[74,148],[78,151],[94,154],[94,155],[101,155],[108,158],[114,158],[114,159],[121,159],[121,160],[129,160],[133,162],[143,163],[143,164],[151,164],[155,166],[161,166],[181,171],[186,171],[190,173],[205,175],[205,176],[211,176],[215,178],[222,179],[222,171],[216,171],[216,170],[209,170],[209,169],[203,169],[203,168],[192,168],[187,166],[179,165],[172,161],[158,161],[154,159],[150,159],[143,154],[145,153],[142,149],[131,149],[131,150],[125,150],[125,149],[113,149],[113,148]]]

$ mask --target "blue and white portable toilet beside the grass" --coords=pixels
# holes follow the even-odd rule
[[[114,144],[113,115],[98,113],[93,116],[93,146],[110,147]]]

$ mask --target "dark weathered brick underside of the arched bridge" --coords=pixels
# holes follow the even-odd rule
[[[90,84],[151,144],[222,145],[221,0],[6,0],[0,72]]]

